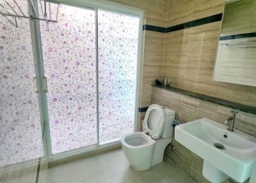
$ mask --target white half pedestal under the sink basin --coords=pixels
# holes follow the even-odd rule
[[[220,183],[229,178],[228,175],[218,170],[218,168],[212,166],[212,164],[208,163],[205,160],[203,166],[203,175],[207,180],[211,181],[212,183]]]

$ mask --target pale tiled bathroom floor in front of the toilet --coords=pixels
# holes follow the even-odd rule
[[[86,157],[29,173],[8,173],[1,183],[195,183],[184,171],[163,161],[149,170],[136,171],[129,166],[122,149]]]

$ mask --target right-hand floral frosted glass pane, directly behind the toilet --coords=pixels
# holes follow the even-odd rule
[[[99,142],[134,131],[139,18],[99,11]]]

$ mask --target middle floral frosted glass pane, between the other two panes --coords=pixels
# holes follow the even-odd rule
[[[58,23],[50,23],[49,31],[45,22],[40,27],[52,154],[93,145],[97,143],[95,12],[61,4]]]

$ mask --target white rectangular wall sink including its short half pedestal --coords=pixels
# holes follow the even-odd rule
[[[211,182],[244,182],[256,163],[255,137],[208,118],[176,126],[175,139],[204,159],[203,174]]]

